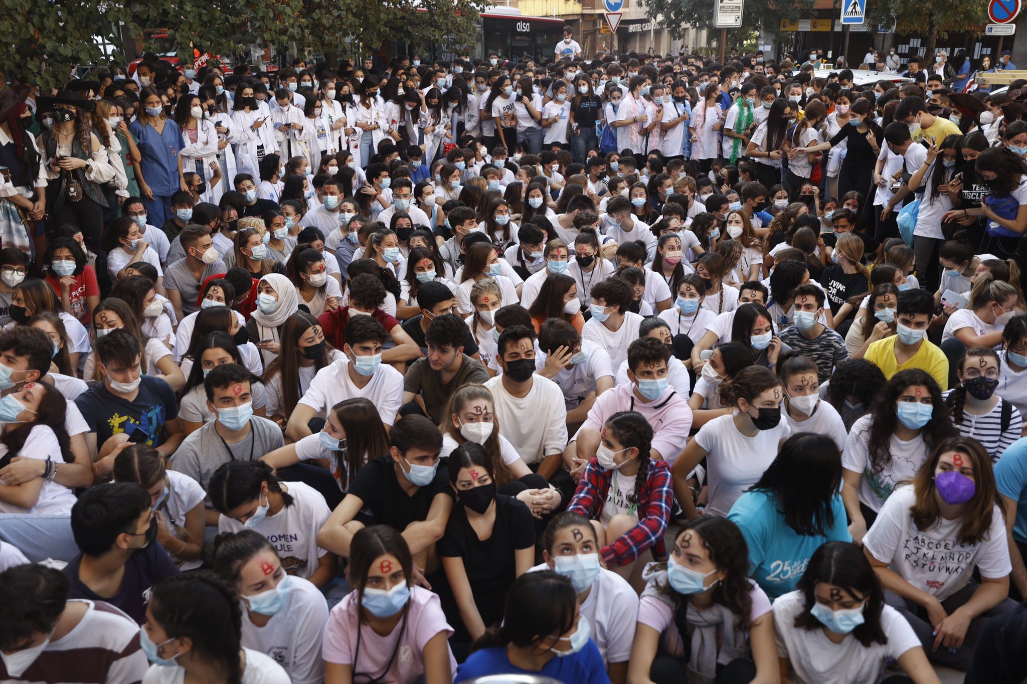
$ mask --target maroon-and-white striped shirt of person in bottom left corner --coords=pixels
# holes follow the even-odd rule
[[[139,646],[139,625],[123,611],[103,601],[71,599],[88,606],[72,631],[51,641],[20,677],[7,674],[0,660],[0,681],[33,684],[132,684],[150,663]]]

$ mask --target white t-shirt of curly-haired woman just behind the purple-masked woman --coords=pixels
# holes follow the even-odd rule
[[[873,472],[867,449],[872,419],[872,415],[867,414],[852,423],[845,451],[841,455],[841,464],[846,470],[863,473],[859,489],[860,501],[871,510],[880,510],[884,501],[891,496],[896,485],[903,480],[912,480],[920,469],[920,464],[927,459],[927,445],[923,442],[922,430],[909,442],[903,442],[892,434],[887,449],[891,455],[891,463],[883,466],[880,472]]]

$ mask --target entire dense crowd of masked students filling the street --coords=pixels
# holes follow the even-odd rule
[[[1019,89],[564,37],[0,89],[0,680],[1027,677]]]

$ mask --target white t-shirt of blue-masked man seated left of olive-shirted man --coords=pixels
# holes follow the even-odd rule
[[[342,355],[317,372],[300,404],[309,406],[317,415],[327,418],[333,406],[356,396],[374,404],[382,422],[391,425],[403,402],[403,375],[391,366],[382,364],[371,376],[371,382],[358,388],[349,377],[349,358]]]

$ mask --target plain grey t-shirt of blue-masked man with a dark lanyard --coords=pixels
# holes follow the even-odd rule
[[[172,469],[198,482],[204,492],[211,485],[214,471],[222,463],[233,460],[256,461],[286,444],[281,436],[281,428],[260,416],[251,419],[250,434],[236,444],[222,440],[215,429],[217,424],[217,421],[211,421],[187,436],[172,458]],[[211,507],[210,496],[204,501],[206,506]]]

